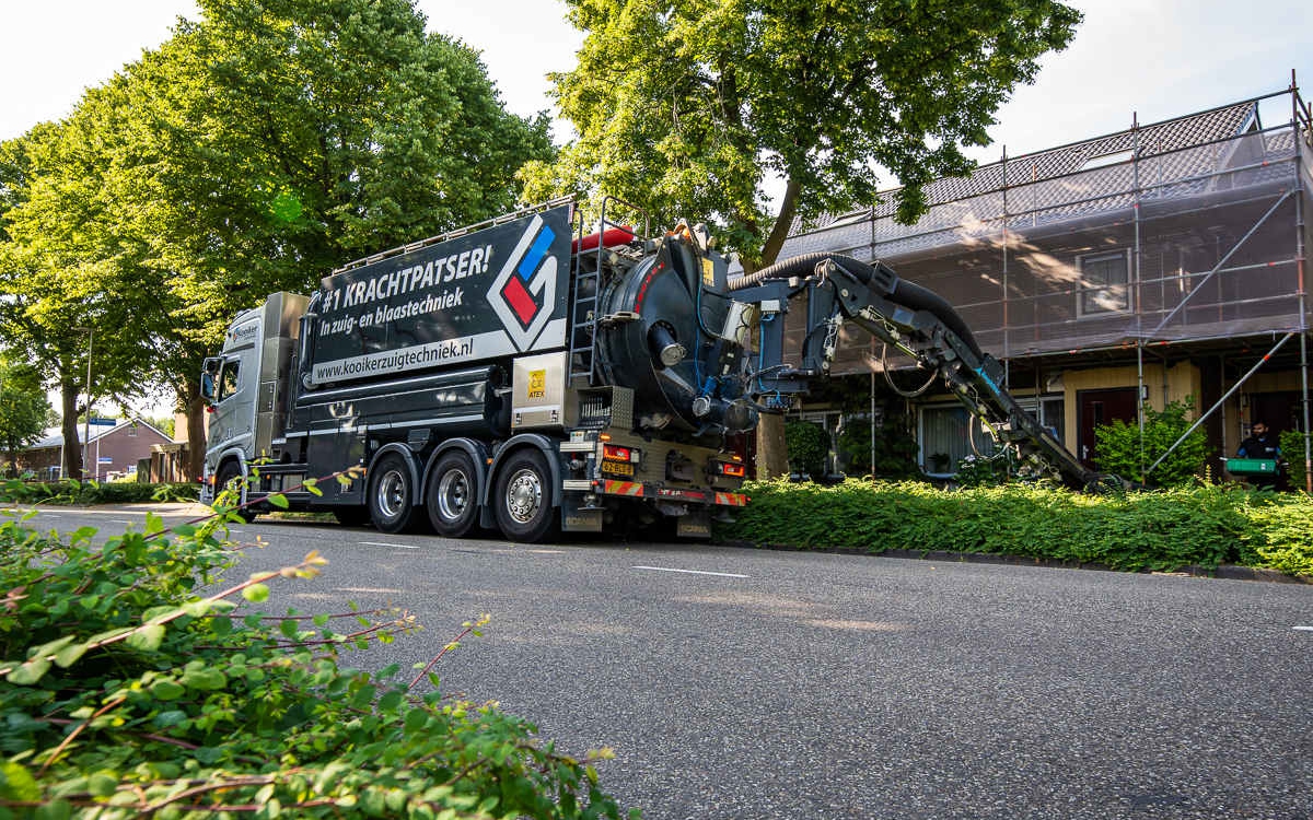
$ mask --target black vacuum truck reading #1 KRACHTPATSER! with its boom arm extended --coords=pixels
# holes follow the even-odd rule
[[[1007,394],[952,307],[888,266],[817,253],[731,277],[701,226],[653,236],[608,206],[587,235],[574,203],[550,202],[238,315],[201,377],[202,501],[231,484],[247,516],[278,493],[385,533],[540,542],[672,517],[705,538],[748,501],[734,442],[827,375],[846,323],[1066,484],[1099,480]],[[785,345],[790,306],[801,349]]]

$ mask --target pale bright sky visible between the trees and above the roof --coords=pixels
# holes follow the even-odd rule
[[[1070,1],[1070,0],[1069,0]],[[549,71],[569,70],[580,34],[561,0],[419,0],[431,30],[483,52],[512,112],[551,108]],[[1287,88],[1313,98],[1309,0],[1075,0],[1073,45],[998,112],[994,161]],[[192,0],[5,0],[0,5],[0,139],[70,113],[81,92],[168,38]],[[1264,123],[1270,117],[1264,112]],[[1285,110],[1271,114],[1289,118]],[[897,185],[889,180],[882,188]]]

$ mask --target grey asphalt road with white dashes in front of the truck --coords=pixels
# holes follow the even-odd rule
[[[175,509],[176,512],[176,509]],[[51,509],[121,530],[139,508]],[[264,522],[232,577],[330,559],[265,605],[462,621],[442,689],[611,747],[667,819],[1313,817],[1313,586],[706,546],[523,547]]]

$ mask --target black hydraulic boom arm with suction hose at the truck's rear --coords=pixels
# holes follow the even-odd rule
[[[852,323],[886,345],[910,356],[920,369],[937,374],[957,399],[1006,445],[1037,459],[1075,489],[1102,485],[1108,476],[1087,470],[1003,387],[1003,367],[982,352],[961,316],[939,295],[898,276],[881,262],[861,262],[834,253],[789,258],[730,281],[738,302],[760,310],[760,357],[751,392],[771,405],[772,398],[806,392],[823,377],[843,323]],[[806,293],[806,325],[801,361],[785,366],[784,312]],[[934,378],[934,377],[932,377]]]

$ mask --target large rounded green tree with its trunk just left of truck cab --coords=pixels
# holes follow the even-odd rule
[[[238,310],[504,211],[516,169],[551,151],[546,119],[508,114],[478,55],[425,34],[410,0],[198,7],[88,93],[63,126],[96,150],[58,154],[9,211],[29,283],[71,279],[131,315],[137,373],[173,387],[193,442],[200,359]],[[92,251],[70,258],[68,237]]]

